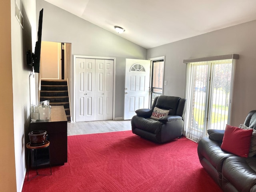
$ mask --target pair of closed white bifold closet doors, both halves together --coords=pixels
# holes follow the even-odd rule
[[[76,58],[76,122],[113,119],[114,60]]]

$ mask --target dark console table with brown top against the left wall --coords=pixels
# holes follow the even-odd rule
[[[68,128],[64,106],[52,106],[50,119],[31,121],[30,131],[46,130],[50,141],[50,162],[52,166],[68,162]]]

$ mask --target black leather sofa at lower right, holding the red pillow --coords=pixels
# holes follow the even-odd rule
[[[244,125],[256,129],[256,110]],[[224,192],[256,192],[256,157],[240,157],[220,148],[224,130],[208,130],[209,138],[198,143],[198,157],[204,169]]]

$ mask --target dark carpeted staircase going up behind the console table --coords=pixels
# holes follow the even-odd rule
[[[41,80],[40,101],[50,100],[50,105],[63,105],[68,122],[70,122],[70,108],[68,85],[66,80]]]

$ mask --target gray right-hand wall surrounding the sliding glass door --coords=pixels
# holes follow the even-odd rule
[[[183,59],[239,54],[234,79],[230,124],[239,126],[256,109],[256,20],[148,49],[148,58],[165,56],[165,95],[185,96]]]

